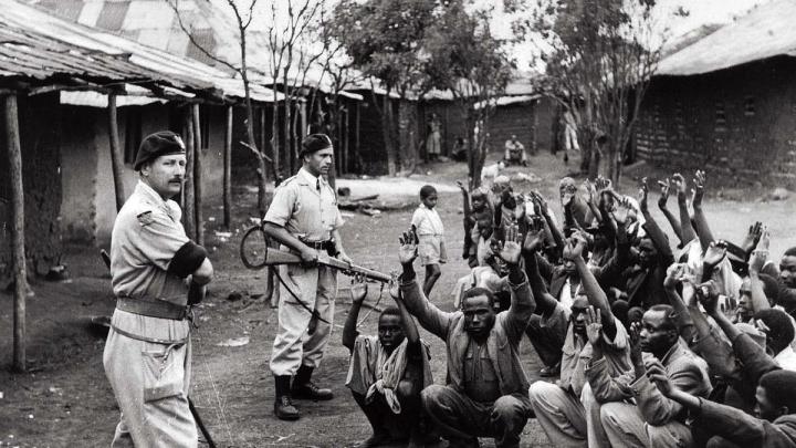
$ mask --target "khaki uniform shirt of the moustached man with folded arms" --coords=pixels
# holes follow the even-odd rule
[[[111,239],[111,273],[116,296],[188,303],[186,285],[167,272],[177,251],[189,241],[174,200],[164,200],[138,181],[119,210]]]

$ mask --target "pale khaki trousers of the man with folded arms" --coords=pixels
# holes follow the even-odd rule
[[[111,329],[103,364],[122,411],[112,447],[197,446],[188,408],[190,341],[179,346],[155,344]]]

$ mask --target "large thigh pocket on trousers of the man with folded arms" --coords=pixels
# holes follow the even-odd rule
[[[185,345],[145,343],[144,403],[156,402],[182,394],[185,386]]]

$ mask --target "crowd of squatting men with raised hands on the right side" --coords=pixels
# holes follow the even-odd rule
[[[775,263],[760,222],[737,244],[715,239],[704,180],[696,171],[692,197],[679,174],[659,181],[675,247],[650,213],[647,179],[637,199],[601,178],[563,179],[563,226],[537,192],[463,190],[473,274],[454,312],[422,293],[417,237],[405,232],[397,306],[378,336],[357,333],[366,286],[352,289],[346,384],[374,429],[360,446],[439,435],[517,447],[536,418],[556,448],[796,447],[796,248]],[[480,281],[489,275],[503,281]],[[446,343],[444,386],[415,320]],[[555,383],[528,381],[524,335]]]

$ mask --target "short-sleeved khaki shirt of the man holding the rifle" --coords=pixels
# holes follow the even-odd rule
[[[344,222],[332,186],[304,168],[276,188],[264,220],[307,241],[329,240]]]

